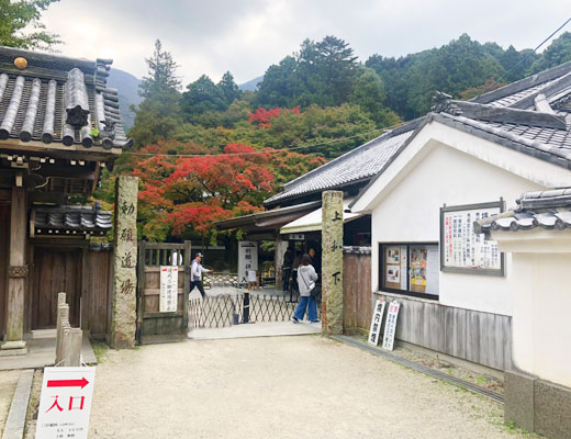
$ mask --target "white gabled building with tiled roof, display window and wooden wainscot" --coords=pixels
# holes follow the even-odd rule
[[[568,63],[441,101],[351,203],[371,215],[373,296],[402,302],[398,339],[512,368],[519,274],[473,222],[524,192],[571,185],[570,100]]]

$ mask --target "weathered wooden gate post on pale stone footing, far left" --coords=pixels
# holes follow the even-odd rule
[[[25,281],[29,271],[25,264],[26,213],[25,188],[12,188],[7,337],[0,349],[0,356],[26,353],[25,341],[23,340]]]

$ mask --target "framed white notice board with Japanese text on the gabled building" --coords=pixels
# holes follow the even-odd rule
[[[473,223],[502,213],[504,202],[440,207],[440,270],[454,273],[504,275],[504,255],[497,243],[475,234]]]

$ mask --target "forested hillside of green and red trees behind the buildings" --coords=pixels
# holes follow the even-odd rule
[[[157,41],[130,131],[134,154],[117,160],[96,196],[111,203],[113,177],[135,175],[139,237],[215,243],[222,236],[213,222],[260,211],[280,184],[425,114],[436,90],[470,99],[567,60],[571,34],[542,54],[461,35],[365,63],[347,42],[326,36],[305,40],[270,66],[254,91],[240,89],[229,71],[182,89],[176,61]]]

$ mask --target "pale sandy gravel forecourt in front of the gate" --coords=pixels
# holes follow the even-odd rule
[[[90,438],[520,437],[502,413],[320,336],[188,341],[109,351]]]

